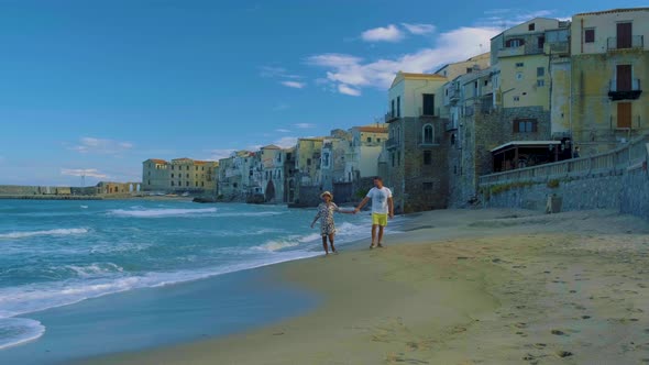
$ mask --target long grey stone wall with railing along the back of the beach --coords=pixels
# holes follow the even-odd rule
[[[544,210],[550,197],[563,211],[610,209],[649,219],[649,136],[607,153],[480,177],[486,208]]]

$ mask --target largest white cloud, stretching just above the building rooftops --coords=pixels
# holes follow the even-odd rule
[[[311,56],[307,58],[307,64],[326,68],[326,79],[338,92],[358,96],[365,87],[388,88],[399,70],[430,73],[444,64],[486,52],[491,38],[499,32],[494,27],[466,26],[439,34],[431,48],[422,48],[397,58],[365,62],[353,55],[333,53]]]

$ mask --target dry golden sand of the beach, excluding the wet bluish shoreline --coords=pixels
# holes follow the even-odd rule
[[[649,224],[610,211],[411,217],[386,247],[265,268],[322,298],[251,332],[87,364],[649,363]]]

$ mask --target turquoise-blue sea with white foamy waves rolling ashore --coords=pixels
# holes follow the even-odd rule
[[[0,200],[0,355],[48,331],[31,313],[322,254],[315,210],[189,201]],[[370,233],[337,215],[337,246]]]

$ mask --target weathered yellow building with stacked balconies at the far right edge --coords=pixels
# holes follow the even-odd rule
[[[649,8],[576,14],[570,129],[582,155],[649,131]]]

